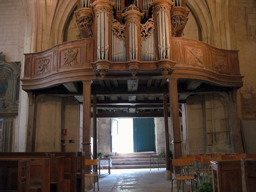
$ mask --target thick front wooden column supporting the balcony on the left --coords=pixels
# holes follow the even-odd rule
[[[91,121],[91,80],[83,81],[83,151],[85,159],[91,159],[90,156],[90,121]],[[89,166],[85,167],[88,173]]]

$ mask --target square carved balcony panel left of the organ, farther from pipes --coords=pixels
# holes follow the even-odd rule
[[[34,75],[42,75],[51,72],[51,56],[35,59]]]

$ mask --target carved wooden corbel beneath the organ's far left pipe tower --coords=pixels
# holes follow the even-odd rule
[[[92,37],[92,22],[93,22],[92,9],[88,7],[80,8],[74,13],[75,13],[75,17],[77,18],[76,19],[77,26],[83,38]]]

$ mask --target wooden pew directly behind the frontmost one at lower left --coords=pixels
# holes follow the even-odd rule
[[[22,160],[24,157],[0,157],[0,160]],[[50,158],[29,158],[30,192],[50,192]]]

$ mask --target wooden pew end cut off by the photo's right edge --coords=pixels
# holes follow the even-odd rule
[[[242,191],[256,190],[256,159],[241,159]]]

